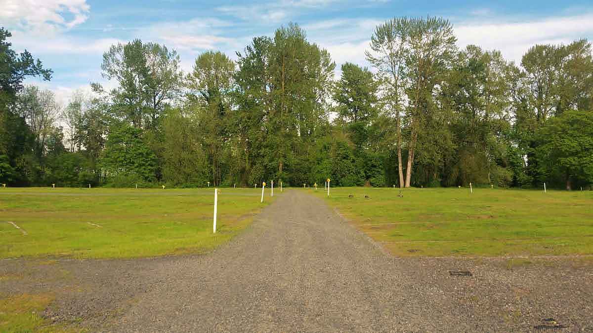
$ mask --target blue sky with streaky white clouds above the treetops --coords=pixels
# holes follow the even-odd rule
[[[534,44],[593,40],[593,2],[549,0],[0,0],[0,26],[12,33],[12,46],[28,50],[54,71],[51,82],[28,79],[52,89],[66,103],[101,77],[104,52],[133,39],[177,50],[184,71],[206,50],[231,59],[256,36],[272,36],[281,25],[297,23],[309,41],[329,50],[339,66],[368,66],[368,49],[377,24],[393,17],[441,16],[454,25],[458,46],[477,44],[500,50],[508,60]]]

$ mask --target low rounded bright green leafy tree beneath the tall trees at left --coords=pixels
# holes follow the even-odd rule
[[[155,180],[156,159],[142,139],[142,130],[119,124],[109,131],[100,165],[107,181],[131,185],[136,180]]]

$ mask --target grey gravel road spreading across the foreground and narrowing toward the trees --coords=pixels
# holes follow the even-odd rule
[[[593,267],[575,260],[509,269],[503,258],[396,258],[319,198],[290,190],[211,254],[5,260],[0,274],[28,278],[0,281],[0,293],[58,290],[46,316],[91,331],[524,332],[544,318],[593,331]],[[47,280],[60,271],[71,277]]]

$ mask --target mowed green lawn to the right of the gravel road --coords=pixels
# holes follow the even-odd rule
[[[593,254],[593,191],[330,190],[316,194],[395,255]]]

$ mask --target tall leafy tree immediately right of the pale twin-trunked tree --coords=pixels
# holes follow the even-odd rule
[[[442,104],[452,110],[454,161],[447,185],[493,182],[510,126],[509,64],[498,51],[470,45],[458,53],[442,88]]]

